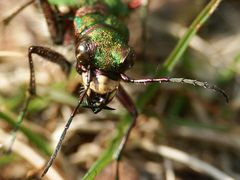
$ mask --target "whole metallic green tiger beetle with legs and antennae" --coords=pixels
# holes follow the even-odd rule
[[[25,5],[21,6],[21,8],[9,16],[9,18],[5,19],[5,23],[8,23],[17,13],[34,1],[35,0],[30,0]],[[111,6],[112,1],[118,6],[120,4],[121,8],[118,8],[118,6]],[[81,5],[78,8],[69,7],[67,12],[61,12],[57,6],[53,6],[47,0],[39,0],[54,44],[63,44],[64,37],[67,34],[73,36],[75,40],[76,71],[81,79],[81,85],[84,87],[79,95],[79,102],[65,124],[58,144],[44,168],[42,177],[47,173],[56,158],[66,132],[84,100],[84,107],[90,108],[94,113],[98,113],[101,110],[112,110],[108,104],[116,96],[132,117],[130,126],[125,132],[114,157],[117,162],[116,179],[118,179],[119,161],[122,156],[122,151],[126,146],[138,116],[137,109],[124,87],[120,84],[121,82],[143,84],[154,82],[191,84],[215,90],[221,93],[226,98],[226,101],[228,101],[228,96],[222,89],[215,85],[209,85],[207,82],[185,78],[164,77],[132,79],[128,77],[125,72],[133,66],[135,53],[128,45],[128,29],[120,19],[117,18],[117,15],[121,14],[123,9],[131,9],[131,6],[123,4],[120,0],[112,1],[85,0],[81,1]],[[135,1],[135,4],[132,5],[134,8],[137,8],[141,5],[140,2],[140,0]],[[71,64],[60,53],[42,46],[29,47],[29,93],[18,120],[18,127],[15,131],[17,131],[25,116],[29,102],[32,97],[36,96],[35,72],[32,59],[33,54],[37,54],[50,62],[56,63],[67,76],[71,70]]]

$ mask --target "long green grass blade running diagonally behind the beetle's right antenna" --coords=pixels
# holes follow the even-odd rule
[[[187,46],[192,39],[192,37],[197,33],[199,28],[206,22],[206,20],[211,16],[211,14],[216,10],[221,0],[211,0],[208,5],[200,12],[197,18],[193,21],[193,23],[188,28],[187,32],[180,39],[172,53],[169,55],[165,63],[163,64],[163,69],[156,73],[157,76],[166,76],[169,74],[173,68],[176,66],[180,57],[183,55]],[[148,85],[146,91],[142,96],[137,100],[137,107],[141,110],[144,105],[154,96],[158,84],[150,84]],[[123,120],[120,122],[118,127],[118,133],[110,142],[107,150],[101,155],[101,157],[92,165],[89,171],[85,174],[83,179],[94,179],[94,177],[112,160],[113,154],[117,148],[117,145],[121,141],[121,137],[124,134],[122,129],[125,129],[131,119],[129,116],[125,116]]]

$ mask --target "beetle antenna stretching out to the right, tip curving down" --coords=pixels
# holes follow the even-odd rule
[[[194,79],[186,79],[186,78],[146,78],[146,79],[131,79],[128,76],[126,76],[125,74],[121,74],[121,79],[125,82],[129,82],[129,83],[152,83],[152,82],[157,82],[157,83],[185,83],[185,84],[191,84],[194,86],[200,86],[203,88],[207,88],[207,89],[212,89],[220,94],[222,94],[224,96],[224,98],[226,99],[226,102],[229,102],[229,98],[228,95],[225,93],[224,90],[222,90],[221,88],[215,86],[215,85],[210,85],[208,84],[208,82],[202,82],[202,81],[198,81],[198,80],[194,80]]]

